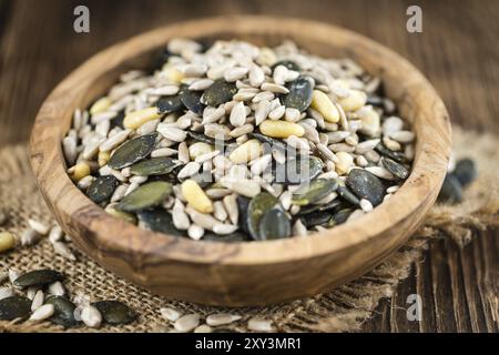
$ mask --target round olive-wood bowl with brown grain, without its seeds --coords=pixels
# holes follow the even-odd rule
[[[417,133],[404,186],[358,221],[307,237],[206,243],[149,232],[108,215],[65,172],[61,139],[73,111],[103,94],[120,73],[145,68],[174,37],[292,39],[307,51],[349,57],[379,75]],[[31,165],[45,202],[85,254],[153,293],[200,304],[264,305],[312,296],[360,276],[397,250],[434,204],[450,154],[444,103],[428,81],[385,47],[336,27],[297,19],[222,17],[166,26],[111,47],[71,73],[43,103],[31,135]]]

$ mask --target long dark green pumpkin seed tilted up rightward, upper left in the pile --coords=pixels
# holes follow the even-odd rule
[[[154,150],[157,133],[141,135],[123,143],[111,156],[108,165],[112,169],[131,166],[146,158]]]

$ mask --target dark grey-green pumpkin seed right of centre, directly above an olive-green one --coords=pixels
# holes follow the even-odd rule
[[[284,164],[277,164],[274,182],[301,185],[314,180],[323,172],[323,162],[316,156],[288,158]]]

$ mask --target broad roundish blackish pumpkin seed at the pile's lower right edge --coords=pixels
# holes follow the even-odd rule
[[[369,200],[377,206],[385,196],[385,186],[383,182],[374,174],[363,169],[354,169],[346,179],[346,184],[359,199]]]

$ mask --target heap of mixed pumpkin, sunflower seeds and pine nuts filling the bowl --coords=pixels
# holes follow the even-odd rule
[[[116,217],[193,240],[303,236],[409,175],[415,134],[352,60],[175,39],[160,62],[77,110],[62,142],[71,179]]]

